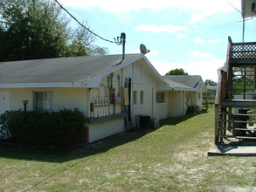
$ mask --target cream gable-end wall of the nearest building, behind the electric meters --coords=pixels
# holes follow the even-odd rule
[[[152,75],[149,66],[144,61],[138,61],[134,64],[128,65],[112,74],[103,77],[100,82],[100,88],[93,88],[88,91],[88,103],[93,101],[93,98],[109,97],[109,88],[115,89],[115,97],[121,94],[121,88],[125,87],[125,82],[131,79],[131,118],[135,123],[136,114],[148,114],[154,117],[160,117],[159,112],[162,109],[156,110],[156,90],[157,80],[156,76]],[[159,81],[159,80],[158,80]],[[137,105],[133,103],[134,91],[137,91]],[[144,93],[144,102],[141,105],[140,92]],[[153,93],[152,93],[153,92]],[[164,106],[165,107],[165,106]],[[121,103],[109,105],[109,114],[121,113],[123,106]],[[154,111],[154,112],[153,112]],[[107,120],[100,123],[89,123],[89,141],[97,141],[111,134],[121,133],[126,130],[124,119]]]

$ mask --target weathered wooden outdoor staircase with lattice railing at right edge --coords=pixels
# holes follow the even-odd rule
[[[256,144],[256,42],[228,40],[225,69],[219,71],[215,144]]]

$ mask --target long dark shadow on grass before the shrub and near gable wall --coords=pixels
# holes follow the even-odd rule
[[[111,148],[135,141],[154,130],[156,129],[142,129],[139,131],[129,131],[121,134],[114,134],[106,139],[95,141],[89,145],[80,144],[76,147],[66,149],[55,147],[9,145],[0,142],[0,159],[3,157],[25,161],[48,161],[62,163],[84,158],[93,154],[107,152]]]

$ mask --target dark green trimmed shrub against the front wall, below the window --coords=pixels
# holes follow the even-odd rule
[[[0,134],[18,143],[70,146],[86,140],[85,122],[77,108],[54,113],[8,111],[0,115]]]

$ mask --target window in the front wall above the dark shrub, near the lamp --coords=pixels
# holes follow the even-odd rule
[[[52,92],[34,92],[34,111],[52,113]]]

